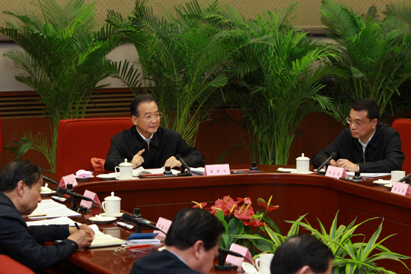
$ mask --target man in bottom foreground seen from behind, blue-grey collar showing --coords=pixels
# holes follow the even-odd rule
[[[206,274],[219,253],[223,223],[206,210],[184,208],[174,216],[166,249],[134,263],[130,274]]]

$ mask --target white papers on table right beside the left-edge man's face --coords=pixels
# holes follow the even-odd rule
[[[49,219],[49,218],[58,218],[58,217],[79,217],[82,214],[70,210],[66,206],[62,205],[61,203],[57,203],[52,199],[42,200],[38,203],[38,206],[32,214],[39,214],[39,213],[47,213],[45,216],[34,216],[30,217],[29,219]]]

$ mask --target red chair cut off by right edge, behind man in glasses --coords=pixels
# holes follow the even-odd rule
[[[411,173],[411,142],[408,142],[411,136],[411,119],[395,119],[393,128],[399,133],[401,151],[406,155],[403,171],[406,171],[406,174]]]

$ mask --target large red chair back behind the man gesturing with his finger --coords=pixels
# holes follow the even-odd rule
[[[91,158],[105,159],[111,138],[132,127],[131,118],[62,120],[58,124],[56,171],[61,175],[79,169],[94,171]]]

